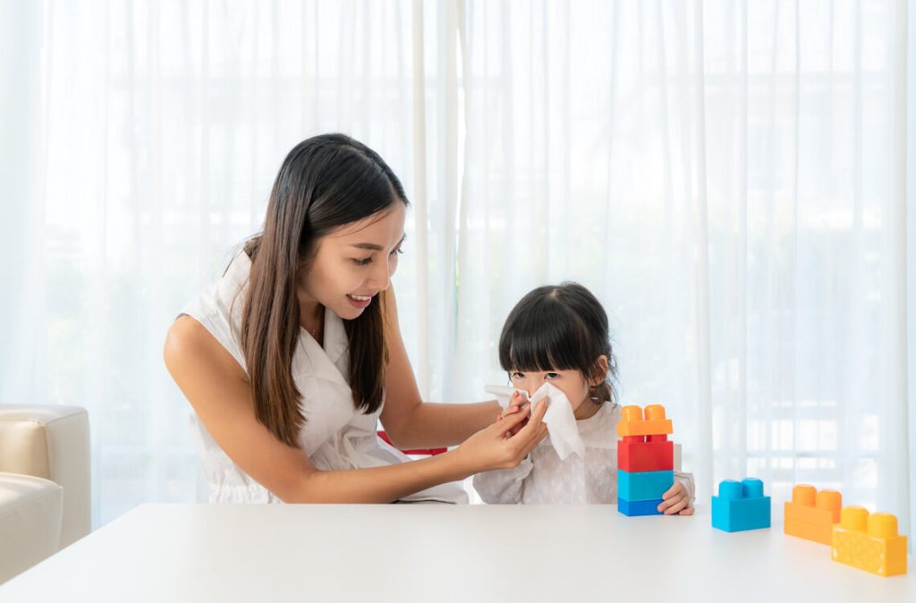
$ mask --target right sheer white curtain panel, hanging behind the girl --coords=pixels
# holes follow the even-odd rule
[[[905,3],[465,15],[467,395],[501,377],[518,297],[579,280],[611,314],[621,400],[667,406],[701,499],[810,481],[906,526]]]

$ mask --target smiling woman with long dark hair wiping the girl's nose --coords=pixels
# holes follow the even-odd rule
[[[301,142],[261,235],[172,324],[166,366],[212,501],[463,502],[450,482],[518,466],[546,435],[546,405],[494,422],[495,401],[420,400],[390,289],[407,206],[372,149]],[[377,438],[379,418],[401,448],[461,445],[409,461]]]

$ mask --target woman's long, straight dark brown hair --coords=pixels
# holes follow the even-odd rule
[[[300,142],[280,166],[264,229],[245,245],[252,265],[240,339],[257,419],[286,444],[297,445],[305,423],[301,393],[292,377],[300,337],[300,271],[319,238],[394,203],[408,204],[398,177],[374,150],[343,134]],[[356,408],[367,413],[378,410],[385,390],[384,302],[380,293],[378,303],[344,321],[347,381]]]

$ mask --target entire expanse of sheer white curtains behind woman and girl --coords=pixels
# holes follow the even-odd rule
[[[906,2],[2,6],[0,401],[89,408],[97,523],[194,498],[165,331],[286,151],[344,131],[413,202],[395,284],[432,400],[504,381],[509,308],[579,280],[703,498],[812,481],[909,531]]]

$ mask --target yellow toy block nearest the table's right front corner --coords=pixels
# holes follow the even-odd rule
[[[844,507],[833,527],[830,556],[841,564],[878,574],[907,573],[907,537],[897,533],[897,517]]]

